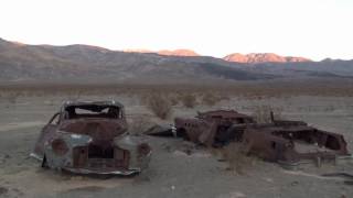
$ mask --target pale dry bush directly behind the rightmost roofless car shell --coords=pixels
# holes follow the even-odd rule
[[[270,106],[256,106],[253,117],[258,123],[271,123],[271,112],[274,112],[275,120],[281,119],[282,108],[272,108]]]

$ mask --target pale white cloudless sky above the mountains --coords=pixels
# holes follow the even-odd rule
[[[1,0],[0,37],[353,59],[353,0]]]

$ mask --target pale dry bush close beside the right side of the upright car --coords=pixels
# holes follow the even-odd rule
[[[132,135],[140,135],[152,127],[150,117],[137,116],[129,120],[129,133]]]

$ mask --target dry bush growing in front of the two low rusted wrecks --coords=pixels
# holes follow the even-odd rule
[[[221,154],[229,164],[227,169],[234,170],[240,175],[246,174],[248,168],[252,168],[256,163],[256,158],[254,156],[246,155],[240,143],[233,142],[228,144],[221,150]]]

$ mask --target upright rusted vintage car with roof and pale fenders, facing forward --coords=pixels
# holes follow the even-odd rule
[[[147,143],[127,133],[124,107],[116,101],[64,102],[31,154],[43,167],[117,175],[141,172],[150,155]]]

